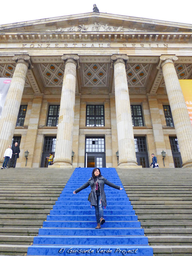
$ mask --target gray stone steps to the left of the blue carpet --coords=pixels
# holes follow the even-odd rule
[[[0,171],[0,255],[25,255],[74,169]]]

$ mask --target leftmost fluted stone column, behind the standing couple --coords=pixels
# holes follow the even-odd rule
[[[12,77],[10,88],[6,97],[6,102],[0,118],[0,160],[8,145],[11,144],[16,126],[16,121],[21,104],[28,68],[32,68],[28,55],[16,55],[16,68]]]

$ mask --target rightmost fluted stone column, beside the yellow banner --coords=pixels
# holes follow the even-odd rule
[[[162,68],[169,104],[180,147],[183,167],[192,166],[192,125],[178,76],[174,67],[176,56],[160,56],[158,68]]]

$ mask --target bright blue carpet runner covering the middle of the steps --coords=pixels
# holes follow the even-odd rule
[[[90,207],[90,186],[78,194],[72,192],[87,182],[93,168],[76,168],[62,194],[29,246],[27,255],[109,255],[153,256],[140,222],[126,195],[126,191],[105,185],[106,222],[95,229],[94,206]],[[122,186],[115,168],[101,168],[110,182]]]

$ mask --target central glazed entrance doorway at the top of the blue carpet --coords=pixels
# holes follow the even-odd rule
[[[87,137],[85,144],[85,167],[105,167],[105,138]]]

